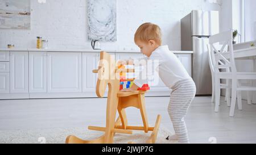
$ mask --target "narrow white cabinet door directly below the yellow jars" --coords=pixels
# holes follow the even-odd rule
[[[29,52],[29,92],[47,93],[47,52]]]

